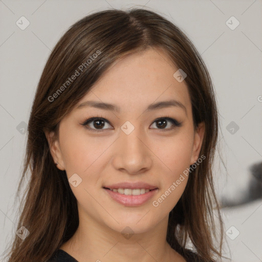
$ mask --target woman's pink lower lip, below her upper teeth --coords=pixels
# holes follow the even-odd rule
[[[126,187],[128,188],[128,187]],[[130,188],[130,187],[129,187]],[[138,188],[138,187],[137,187]],[[142,187],[143,188],[143,187]],[[118,192],[111,191],[108,188],[103,188],[110,197],[119,204],[126,207],[138,207],[145,204],[149,199],[151,199],[158,191],[158,188],[151,189],[149,192],[140,195],[126,195],[120,194]],[[133,188],[135,189],[135,188]]]

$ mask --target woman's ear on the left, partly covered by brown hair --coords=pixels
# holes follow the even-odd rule
[[[50,153],[53,157],[54,163],[58,162],[56,167],[60,170],[65,170],[64,168],[64,162],[62,159],[62,154],[61,154],[61,149],[60,149],[60,144],[58,139],[55,136],[54,132],[47,132],[45,131],[45,135],[49,144],[50,148]]]

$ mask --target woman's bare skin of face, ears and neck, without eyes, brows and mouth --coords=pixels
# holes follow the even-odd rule
[[[177,70],[159,49],[130,54],[117,61],[78,103],[108,102],[119,106],[120,112],[74,108],[61,120],[59,138],[46,133],[57,168],[65,170],[68,178],[77,173],[82,179],[77,187],[70,184],[78,203],[79,227],[60,247],[79,262],[185,261],[166,242],[166,230],[168,214],[188,178],[184,176],[158,207],[152,205],[197,161],[204,136],[203,123],[193,128],[186,83],[173,77]],[[170,99],[180,101],[186,111],[179,106],[145,111],[151,103]],[[161,129],[155,121],[166,116],[182,125],[170,129],[168,121]],[[92,117],[103,117],[110,124],[105,122],[98,133],[81,125]],[[121,130],[126,121],[135,127],[129,135]],[[89,127],[97,128],[94,121]],[[103,188],[125,181],[147,182],[158,190],[145,204],[127,207]],[[128,239],[121,233],[126,226],[134,232]]]

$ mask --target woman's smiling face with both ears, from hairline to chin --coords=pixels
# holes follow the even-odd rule
[[[177,204],[188,180],[181,174],[198,159],[204,135],[204,125],[194,131],[177,70],[158,49],[128,55],[62,119],[51,154],[67,173],[79,217],[142,233]]]

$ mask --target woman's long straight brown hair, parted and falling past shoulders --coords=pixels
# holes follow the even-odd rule
[[[17,190],[18,195],[29,176],[17,229],[24,226],[30,234],[24,240],[15,235],[9,262],[47,261],[73,236],[79,224],[67,174],[56,168],[44,131],[58,135],[61,119],[106,70],[125,55],[147,48],[161,48],[173,65],[187,74],[194,127],[205,123],[200,156],[206,158],[192,170],[181,199],[169,214],[167,242],[185,257],[190,241],[203,261],[221,258],[223,223],[212,178],[218,120],[209,73],[198,51],[177,26],[155,12],[134,8],[104,10],[82,18],[65,32],[50,54],[30,114],[24,170]],[[68,78],[76,70],[79,76],[69,84]],[[213,208],[219,217],[218,234]]]

